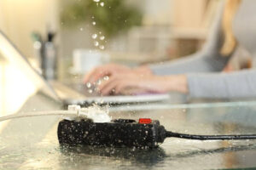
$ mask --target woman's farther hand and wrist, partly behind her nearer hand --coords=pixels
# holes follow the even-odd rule
[[[102,77],[113,77],[119,74],[132,74],[136,73],[137,75],[148,75],[151,74],[148,66],[137,67],[136,69],[131,69],[125,65],[116,65],[116,64],[108,64],[96,67],[94,70],[90,71],[84,77],[84,83],[91,82],[95,83],[97,80]]]

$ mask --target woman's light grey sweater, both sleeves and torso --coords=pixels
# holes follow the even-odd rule
[[[256,97],[256,70],[220,72],[230,56],[219,54],[223,34],[221,20],[223,4],[213,23],[212,31],[200,52],[183,59],[150,65],[157,75],[186,74],[192,98],[252,98]],[[243,0],[237,9],[232,28],[239,46],[256,60],[256,1]]]

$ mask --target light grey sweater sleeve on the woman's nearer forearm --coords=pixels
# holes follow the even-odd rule
[[[256,97],[256,70],[231,73],[190,73],[187,77],[191,98]]]

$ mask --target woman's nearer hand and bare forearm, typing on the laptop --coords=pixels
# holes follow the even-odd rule
[[[177,91],[183,94],[188,93],[187,78],[184,75],[177,76],[154,76],[130,74],[116,74],[109,77],[108,81],[98,86],[102,95],[109,94],[163,94],[170,91]]]

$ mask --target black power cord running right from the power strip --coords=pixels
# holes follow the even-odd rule
[[[185,133],[172,133],[166,131],[166,137],[174,137],[180,139],[195,139],[195,140],[241,140],[241,139],[256,139],[256,134],[232,134],[232,135],[197,135]]]

